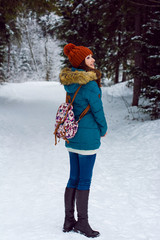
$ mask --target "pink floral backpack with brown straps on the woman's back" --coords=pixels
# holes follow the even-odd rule
[[[56,114],[56,123],[55,123],[55,145],[57,144],[57,138],[62,138],[67,143],[69,143],[68,139],[71,139],[75,136],[77,130],[78,130],[78,123],[79,121],[84,117],[84,115],[88,112],[90,109],[90,105],[88,105],[85,110],[81,113],[79,119],[75,121],[75,116],[73,112],[73,102],[74,99],[80,90],[82,85],[79,86],[77,91],[75,92],[72,101],[68,102],[68,96],[66,97],[66,103],[62,103],[57,111]]]

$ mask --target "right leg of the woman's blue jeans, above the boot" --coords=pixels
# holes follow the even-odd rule
[[[93,167],[96,159],[96,154],[81,155],[79,154],[79,183],[78,190],[89,190],[92,180]]]

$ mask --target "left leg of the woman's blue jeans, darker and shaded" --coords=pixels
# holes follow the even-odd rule
[[[68,188],[77,188],[79,181],[79,158],[77,153],[69,152],[70,177],[67,183]]]

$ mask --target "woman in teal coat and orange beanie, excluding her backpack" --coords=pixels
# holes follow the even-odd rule
[[[75,137],[65,143],[70,157],[70,177],[65,190],[63,231],[73,230],[87,237],[97,237],[99,232],[92,230],[88,223],[88,198],[100,138],[107,133],[101,101],[101,74],[95,69],[95,60],[90,49],[69,43],[64,47],[64,54],[72,68],[61,71],[60,82],[71,99],[79,85],[82,85],[73,103],[76,120],[88,104],[90,110],[80,120]],[[75,199],[78,221],[74,218]]]

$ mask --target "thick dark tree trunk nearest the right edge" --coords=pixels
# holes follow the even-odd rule
[[[141,36],[141,12],[137,9],[135,14],[135,36]],[[139,41],[135,42],[135,69],[140,71],[142,67],[141,45]],[[133,101],[132,106],[138,106],[141,91],[141,77],[136,73],[134,77]]]

